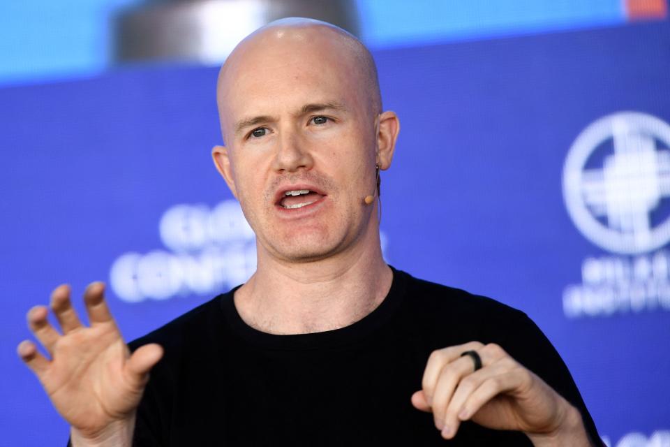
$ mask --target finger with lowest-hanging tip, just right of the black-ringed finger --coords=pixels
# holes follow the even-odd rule
[[[475,390],[477,390],[477,388],[479,388],[485,381],[497,383],[496,378],[505,375],[505,372],[507,371],[508,369],[505,365],[502,365],[501,362],[495,362],[493,365],[489,365],[479,369],[477,372],[468,374],[460,381],[458,388],[454,391],[454,395],[447,404],[444,413],[442,437],[450,439],[454,437],[456,432],[458,432],[461,420],[463,420],[460,418],[460,413],[463,411],[463,404],[466,403],[472,393],[475,393]],[[502,390],[498,390],[498,393],[501,391]]]

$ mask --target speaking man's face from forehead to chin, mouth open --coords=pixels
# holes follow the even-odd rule
[[[375,188],[378,115],[350,50],[310,29],[246,46],[220,80],[218,162],[259,249],[311,261],[364,241],[377,230],[363,198]]]

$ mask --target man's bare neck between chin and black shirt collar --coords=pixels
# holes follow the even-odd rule
[[[379,233],[368,244],[308,263],[278,262],[259,253],[258,270],[234,295],[241,318],[273,334],[343,328],[386,297],[393,273]]]

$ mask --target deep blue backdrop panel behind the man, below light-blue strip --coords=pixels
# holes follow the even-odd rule
[[[385,108],[402,124],[382,174],[387,260],[527,312],[600,432],[622,447],[670,442],[670,300],[660,292],[670,256],[591,242],[566,209],[564,166],[597,119],[634,111],[670,122],[669,48],[658,22],[374,54]],[[25,312],[55,285],[80,295],[107,281],[133,339],[253,271],[253,235],[211,165],[215,82],[215,68],[163,66],[0,89],[0,444],[67,437],[15,355]],[[667,151],[670,141],[650,138]],[[602,168],[613,146],[593,147],[584,168]],[[633,174],[656,175],[645,173]],[[649,210],[662,223],[666,198]],[[647,293],[583,298],[594,284]]]

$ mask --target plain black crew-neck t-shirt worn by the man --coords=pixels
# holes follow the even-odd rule
[[[137,412],[136,446],[530,446],[465,422],[445,441],[410,397],[431,351],[500,344],[576,406],[567,367],[530,318],[489,298],[394,270],[385,300],[345,328],[271,335],[244,323],[233,291],[131,343],[165,356]]]

